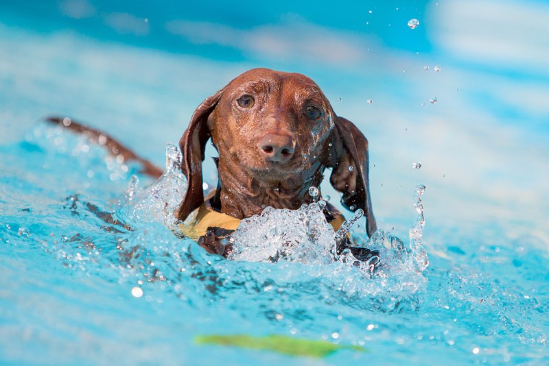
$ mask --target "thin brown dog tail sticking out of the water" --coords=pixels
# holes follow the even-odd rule
[[[108,136],[108,134],[104,132],[87,127],[81,123],[72,121],[69,118],[47,117],[46,121],[66,127],[77,134],[87,136],[90,141],[103,145],[110,154],[122,156],[124,160],[134,160],[135,162],[139,162],[139,164],[141,164],[140,172],[143,174],[150,175],[152,178],[159,178],[163,173],[162,169],[156,167],[156,165],[152,164],[152,162],[137,156],[135,152],[131,151],[128,147],[122,145],[115,140],[115,138]]]

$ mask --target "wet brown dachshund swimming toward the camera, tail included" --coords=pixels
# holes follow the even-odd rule
[[[61,119],[50,120],[62,123]],[[73,130],[86,130],[72,125]],[[86,132],[106,136],[96,130]],[[215,159],[219,181],[205,200],[202,161],[209,138],[219,152]],[[140,159],[112,138],[106,144],[115,154]],[[309,187],[320,187],[325,169],[330,168],[330,182],[342,193],[342,204],[351,211],[364,210],[369,236],[376,230],[369,193],[368,141],[353,123],[335,114],[320,88],[305,75],[246,71],[196,108],[180,148],[181,169],[188,180],[176,212],[181,221],[195,211],[200,217],[205,206],[205,212],[219,212],[236,223],[260,214],[266,206],[296,210],[313,201]],[[152,175],[158,174],[148,162],[143,164]],[[339,212],[327,205],[325,214],[330,220]],[[230,232],[208,227],[199,233],[198,243],[226,256],[230,248],[218,239]]]

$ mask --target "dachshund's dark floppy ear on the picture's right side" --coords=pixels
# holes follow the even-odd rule
[[[342,117],[335,117],[334,130],[336,161],[331,163],[330,183],[336,190],[343,193],[343,206],[355,211],[364,210],[366,215],[366,232],[369,236],[377,230],[373,217],[369,187],[368,140],[358,128]]]

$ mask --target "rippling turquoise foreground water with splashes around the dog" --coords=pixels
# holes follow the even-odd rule
[[[172,212],[185,178],[174,145],[156,182],[138,182],[137,167],[59,127],[40,125],[0,156],[4,361],[307,362],[194,343],[207,334],[282,334],[369,351],[340,350],[327,363],[546,360],[546,254],[520,241],[428,253],[424,186],[408,243],[351,230],[379,252],[367,262],[334,254],[338,234],[322,200],[245,219],[225,260],[178,234]]]

